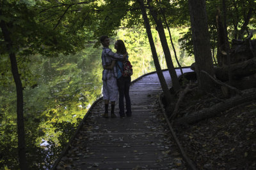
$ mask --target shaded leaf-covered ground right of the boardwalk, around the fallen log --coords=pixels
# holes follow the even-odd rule
[[[211,94],[214,94],[213,97]],[[179,115],[209,108],[225,100],[221,90],[211,94],[186,94]],[[189,127],[173,129],[188,157],[198,169],[255,169],[256,101],[234,106],[218,117],[208,118]]]

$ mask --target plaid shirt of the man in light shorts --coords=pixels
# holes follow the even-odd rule
[[[111,49],[103,47],[102,54],[101,54],[102,67],[110,66],[112,60],[122,60],[122,59],[123,59],[123,55],[113,53]],[[116,76],[117,76],[116,66],[114,66],[112,70],[103,69],[102,71],[102,80],[108,80],[111,77],[116,78]]]

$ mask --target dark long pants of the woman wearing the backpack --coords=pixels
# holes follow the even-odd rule
[[[131,76],[124,77],[121,76],[117,79],[117,86],[119,92],[119,114],[120,117],[124,117],[124,97],[125,97],[125,104],[126,104],[126,116],[131,117],[131,99],[129,95],[129,89],[131,85]]]

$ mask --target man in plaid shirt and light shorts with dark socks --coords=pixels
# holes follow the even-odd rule
[[[115,110],[115,101],[118,99],[118,87],[116,84],[116,67],[115,63],[116,60],[124,60],[127,56],[119,55],[117,53],[113,53],[111,49],[109,49],[109,38],[108,36],[101,36],[100,42],[103,46],[102,50],[102,67],[104,70],[102,71],[102,81],[103,81],[103,99],[104,99],[104,106],[105,112],[103,117],[108,118],[108,105],[109,101],[111,102],[111,118],[115,118],[116,115],[114,113]],[[106,69],[107,66],[113,67],[113,69]]]

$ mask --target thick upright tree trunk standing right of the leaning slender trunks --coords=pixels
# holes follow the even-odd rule
[[[211,87],[212,80],[201,71],[206,71],[213,76],[214,67],[211,57],[205,0],[189,0],[189,11],[198,85],[200,90],[207,91]]]

